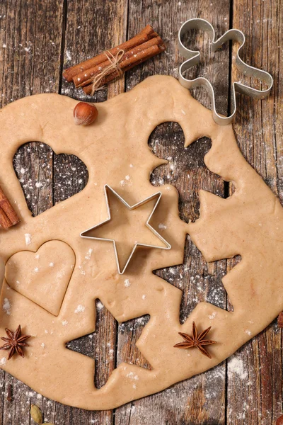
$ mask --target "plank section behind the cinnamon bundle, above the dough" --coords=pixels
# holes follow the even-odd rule
[[[89,59],[126,40],[127,0],[71,1],[67,8],[64,68]],[[82,89],[62,81],[62,94],[80,101],[105,101],[125,89],[124,78],[99,90],[91,98]]]

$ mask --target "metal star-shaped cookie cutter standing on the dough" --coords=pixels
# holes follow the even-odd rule
[[[108,239],[108,238],[104,238],[104,237],[94,237],[94,236],[86,236],[85,234],[90,232],[91,230],[97,229],[98,227],[101,227],[103,225],[105,225],[105,223],[110,222],[111,220],[111,208],[110,208],[110,203],[109,203],[109,198],[108,198],[108,191],[111,191],[115,196],[117,196],[117,198],[122,202],[123,205],[125,205],[125,207],[132,211],[135,210],[136,208],[139,208],[141,205],[144,205],[145,203],[148,203],[151,199],[157,198],[156,203],[154,205],[153,210],[151,211],[151,214],[149,215],[149,218],[146,220],[146,227],[148,227],[151,232],[153,232],[156,237],[158,237],[159,240],[161,240],[161,242],[163,242],[163,244],[165,244],[165,246],[156,246],[156,245],[148,245],[148,244],[140,244],[139,242],[136,242],[134,244],[134,247],[132,249],[131,254],[129,254],[129,258],[127,259],[127,262],[125,263],[124,268],[121,271],[120,268],[120,261],[119,261],[119,257],[118,257],[118,253],[117,253],[117,246],[116,246],[116,242],[115,239]],[[105,184],[104,186],[104,193],[105,193],[105,200],[106,200],[106,205],[107,205],[107,210],[108,210],[108,219],[104,220],[103,222],[98,223],[98,225],[95,225],[93,227],[90,227],[90,229],[84,230],[83,232],[81,232],[80,236],[83,239],[96,239],[96,240],[100,240],[100,241],[108,241],[108,242],[112,242],[113,246],[114,246],[114,252],[115,252],[115,260],[116,260],[116,264],[117,264],[117,271],[120,275],[122,275],[123,273],[125,273],[125,270],[127,268],[127,266],[129,265],[129,262],[132,259],[132,256],[134,255],[134,251],[136,251],[138,246],[145,246],[147,248],[158,248],[158,249],[171,249],[171,244],[169,244],[166,239],[164,239],[161,234],[159,234],[158,232],[156,232],[156,229],[154,229],[154,227],[151,227],[151,225],[149,224],[151,217],[154,215],[154,212],[158,206],[158,203],[161,199],[162,193],[161,192],[157,192],[154,193],[154,195],[149,196],[148,198],[145,198],[144,200],[141,200],[139,203],[136,203],[134,205],[129,205],[125,199],[123,199],[114,189],[112,189],[110,186],[108,186],[107,184]]]

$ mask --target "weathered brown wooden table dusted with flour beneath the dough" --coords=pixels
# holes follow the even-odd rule
[[[38,93],[84,99],[81,91],[74,91],[62,79],[62,69],[132,37],[147,23],[166,40],[166,54],[132,69],[91,100],[105,101],[152,74],[177,76],[178,28],[193,17],[208,19],[217,35],[232,27],[243,30],[247,36],[243,59],[270,71],[275,78],[267,100],[238,96],[234,129],[243,155],[282,198],[282,0],[1,0],[1,106]],[[190,41],[192,48],[198,45],[204,54],[200,69],[193,69],[190,75],[202,72],[213,81],[218,109],[226,114],[231,81],[243,81],[233,66],[236,45],[227,44],[216,52],[213,62],[207,42],[205,36]],[[195,91],[194,96],[209,107],[204,90]],[[47,145],[30,142],[16,154],[14,166],[30,210],[37,215],[80,191],[86,184],[87,171],[79,159],[57,156]],[[180,126],[166,123],[156,128],[149,146],[158,157],[171,158],[168,165],[154,171],[151,180],[156,186],[171,183],[178,188],[180,215],[187,221],[198,217],[200,188],[226,198],[233,187],[204,166],[209,140],[198,140],[185,150],[183,142]],[[3,172],[0,170],[0,177]],[[221,278],[238,260],[207,264],[187,237],[184,264],[157,272],[183,289],[181,321],[202,300],[231,308]],[[117,324],[105,308],[97,307],[96,334],[73,341],[69,347],[96,358],[95,382],[100,387],[122,360],[149,367],[134,345],[149,318]],[[105,342],[109,343],[106,351],[100,349]],[[29,416],[31,403],[40,406],[45,421],[57,425],[272,425],[282,412],[282,332],[274,322],[213,370],[114,412],[86,412],[52,402],[3,370],[0,379],[3,425],[33,423]],[[8,384],[13,388],[13,402],[6,400]]]

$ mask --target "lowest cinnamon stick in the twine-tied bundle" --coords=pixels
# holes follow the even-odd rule
[[[134,58],[135,60],[133,60],[133,57],[130,57],[128,60],[121,62],[122,72],[129,71],[129,69],[134,68],[135,66],[137,66],[137,64],[141,64],[142,62],[145,62],[146,60],[158,55],[164,50],[166,50],[165,45],[161,45],[161,46],[155,45],[137,54],[137,57]],[[113,81],[116,78],[117,78],[117,72],[114,71],[101,81],[100,86],[103,86],[104,84],[108,84],[110,83],[110,81]],[[93,84],[88,84],[88,86],[83,86],[82,89],[86,94],[91,94],[93,90]]]

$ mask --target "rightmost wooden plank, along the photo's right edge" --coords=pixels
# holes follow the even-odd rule
[[[270,98],[238,96],[236,135],[248,162],[282,199],[282,22],[278,1],[233,0],[233,27],[247,35],[243,59],[272,73]],[[233,47],[233,54],[236,47]],[[232,67],[232,78],[243,75]],[[247,83],[257,84],[257,81]],[[233,265],[233,264],[232,264]],[[229,265],[229,267],[231,264]],[[270,425],[282,413],[282,331],[274,323],[228,362],[227,419],[233,425]]]

